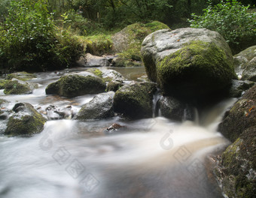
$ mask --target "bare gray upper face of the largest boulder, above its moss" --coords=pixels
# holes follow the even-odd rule
[[[173,31],[162,29],[149,34],[142,42],[142,58],[150,80],[156,82],[156,65],[167,55],[177,52],[184,44],[193,40],[201,40],[206,43],[215,43],[221,48],[230,62],[233,62],[232,52],[227,42],[216,31],[206,28],[179,28]],[[149,70],[151,72],[149,72]]]

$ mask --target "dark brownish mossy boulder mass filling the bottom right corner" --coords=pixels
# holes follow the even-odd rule
[[[233,142],[218,157],[215,175],[227,197],[256,194],[256,86],[224,115],[218,130]]]

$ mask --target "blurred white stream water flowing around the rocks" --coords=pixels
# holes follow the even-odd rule
[[[76,73],[84,69],[69,71]],[[130,80],[144,69],[119,69]],[[59,73],[65,74],[67,71]],[[4,96],[10,107],[29,102],[44,109],[72,105],[77,112],[94,95],[67,99],[47,96],[56,73],[41,73],[32,95]],[[206,157],[229,142],[216,131],[233,100],[200,113],[197,121],[163,117],[123,121],[51,120],[32,137],[0,136],[0,197],[116,198],[222,197]],[[113,123],[124,127],[108,132]]]

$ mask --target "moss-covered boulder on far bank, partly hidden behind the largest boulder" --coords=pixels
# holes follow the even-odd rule
[[[142,40],[148,34],[163,28],[169,27],[158,21],[146,24],[133,23],[112,36],[114,50],[118,53],[120,60],[123,60],[123,63],[126,63],[124,60],[141,61]],[[128,65],[128,63],[125,65]]]

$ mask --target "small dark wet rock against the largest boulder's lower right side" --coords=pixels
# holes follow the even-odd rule
[[[232,80],[232,86],[230,87],[228,96],[230,98],[239,98],[252,86],[254,86],[254,82],[249,80]]]

